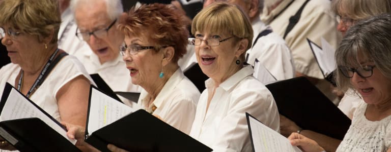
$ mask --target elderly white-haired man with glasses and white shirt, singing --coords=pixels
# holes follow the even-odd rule
[[[87,71],[98,73],[114,91],[139,92],[119,55],[124,41],[124,34],[117,28],[123,13],[121,1],[72,0],[70,7],[78,27],[76,36],[87,42],[93,52],[79,57]],[[121,100],[131,105],[130,101]]]

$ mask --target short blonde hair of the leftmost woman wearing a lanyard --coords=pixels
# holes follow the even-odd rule
[[[57,0],[3,0],[0,14],[1,26],[8,24],[25,33],[38,35],[39,41],[54,32],[50,43],[57,43],[61,23]]]

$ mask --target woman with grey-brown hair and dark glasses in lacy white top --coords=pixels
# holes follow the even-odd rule
[[[337,85],[362,97],[337,151],[391,151],[391,14],[361,21],[348,30],[336,51]],[[292,145],[322,151],[315,141],[293,133]]]

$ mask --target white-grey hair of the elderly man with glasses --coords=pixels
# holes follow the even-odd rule
[[[75,10],[80,7],[80,5],[94,5],[97,2],[104,1],[107,6],[107,15],[110,20],[115,20],[121,16],[124,12],[122,7],[121,0],[71,0],[70,8],[75,14]]]

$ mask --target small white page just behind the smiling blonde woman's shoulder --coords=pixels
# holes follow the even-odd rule
[[[264,85],[276,81],[273,75],[257,59],[255,59],[253,75]]]

